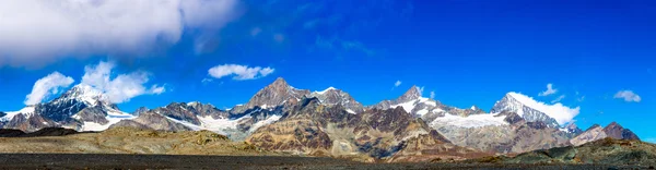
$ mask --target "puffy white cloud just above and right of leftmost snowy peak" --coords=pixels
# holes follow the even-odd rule
[[[152,85],[147,88],[144,85],[149,82],[148,72],[137,71],[128,74],[118,74],[112,78],[114,64],[101,62],[97,65],[87,65],[84,68],[82,83],[103,93],[104,99],[120,104],[129,101],[131,98],[141,95],[162,94],[166,92],[164,86]]]

